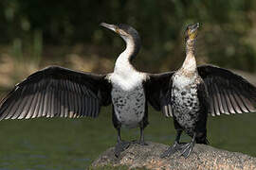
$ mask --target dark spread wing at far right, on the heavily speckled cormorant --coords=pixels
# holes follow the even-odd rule
[[[211,65],[197,70],[209,92],[211,115],[256,111],[256,88],[245,78]]]

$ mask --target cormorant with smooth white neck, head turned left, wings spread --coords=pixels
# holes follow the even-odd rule
[[[145,144],[143,129],[148,125],[148,100],[158,107],[160,90],[168,88],[172,73],[138,72],[131,60],[140,48],[137,30],[123,24],[108,25],[126,42],[113,73],[96,75],[49,66],[28,76],[1,101],[0,120],[36,117],[97,117],[102,106],[112,104],[112,120],[118,130],[115,154],[129,142],[120,137],[120,127],[140,127],[138,144]],[[157,105],[157,106],[156,106]]]

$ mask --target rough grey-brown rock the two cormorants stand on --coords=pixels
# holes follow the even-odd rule
[[[131,144],[119,158],[114,156],[114,147],[107,149],[92,163],[91,168],[102,166],[128,166],[159,170],[172,169],[256,169],[256,158],[238,152],[229,152],[210,145],[195,144],[192,154],[185,159],[176,152],[169,158],[160,159],[160,154],[169,146],[150,143],[149,145]]]

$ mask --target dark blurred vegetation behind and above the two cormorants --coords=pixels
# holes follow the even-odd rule
[[[10,84],[47,64],[111,72],[124,42],[101,22],[138,30],[143,47],[136,65],[142,71],[178,68],[184,29],[199,22],[198,63],[256,72],[253,0],[1,0],[0,11],[0,74],[13,68],[6,75]]]

